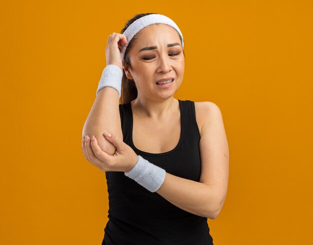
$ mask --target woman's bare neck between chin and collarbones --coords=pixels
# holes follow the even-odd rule
[[[178,101],[174,97],[155,101],[138,96],[131,101],[131,109],[132,111],[134,109],[142,117],[162,120],[168,119],[176,111],[177,104]]]

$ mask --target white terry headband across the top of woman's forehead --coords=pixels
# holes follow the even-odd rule
[[[130,40],[132,39],[132,37],[141,29],[143,29],[144,27],[151,25],[151,24],[167,24],[170,25],[171,27],[173,27],[174,29],[177,30],[177,32],[179,33],[180,37],[181,37],[181,44],[182,44],[182,48],[183,48],[183,38],[182,38],[182,34],[181,31],[179,30],[178,26],[175,24],[174,21],[172,21],[169,17],[162,15],[162,14],[148,14],[148,15],[144,15],[141,18],[136,19],[135,21],[133,21],[128,27],[127,29],[125,29],[125,31],[122,33],[123,35],[126,36],[127,39],[127,44],[122,46],[120,49],[120,57],[121,60],[124,61],[124,55],[125,55],[125,51],[126,48],[130,42]]]

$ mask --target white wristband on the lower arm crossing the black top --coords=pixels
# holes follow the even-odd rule
[[[156,192],[164,182],[165,170],[138,155],[136,165],[124,175],[150,192]]]

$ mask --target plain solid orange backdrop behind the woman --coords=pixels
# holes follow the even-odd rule
[[[311,0],[0,3],[0,244],[100,245],[105,174],[81,151],[111,32],[136,13],[185,42],[175,98],[212,101],[229,144],[214,245],[313,244]]]

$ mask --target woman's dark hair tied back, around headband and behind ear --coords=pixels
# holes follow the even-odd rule
[[[132,17],[131,19],[129,19],[126,22],[125,27],[120,31],[120,33],[122,34],[133,21],[135,21],[138,18],[141,18],[145,15],[149,15],[149,14],[156,14],[156,13],[139,13],[139,14],[136,14],[134,17]],[[127,48],[125,50],[125,55],[124,55],[125,63],[127,63],[127,65],[130,68],[131,68],[131,63],[130,63],[128,52],[131,49],[133,42],[136,39],[136,36],[137,35],[134,35],[132,37],[132,39],[130,40],[130,42],[128,43]],[[180,37],[180,40],[181,40],[181,37]],[[183,53],[183,55],[184,55],[184,53]],[[137,92],[137,88],[136,88],[136,84],[135,84],[134,80],[128,79],[126,77],[125,71],[123,70],[123,76],[122,76],[122,80],[121,80],[120,103],[121,104],[128,103],[128,102],[134,100],[135,98],[137,98],[137,95],[138,95],[138,92]]]

